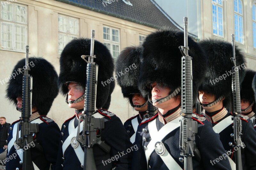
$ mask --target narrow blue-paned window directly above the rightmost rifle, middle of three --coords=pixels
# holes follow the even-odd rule
[[[234,0],[235,40],[243,43],[243,10],[241,0]]]

